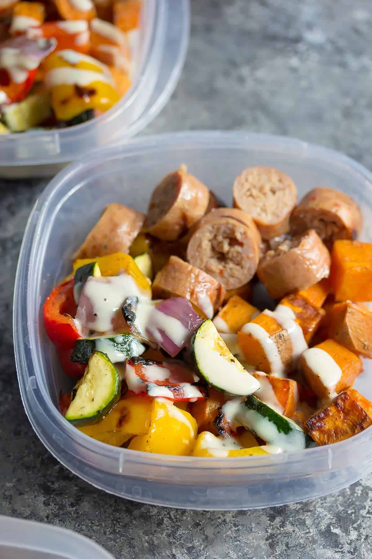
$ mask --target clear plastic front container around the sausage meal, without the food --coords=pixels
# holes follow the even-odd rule
[[[146,211],[165,174],[189,165],[231,204],[235,176],[248,165],[271,165],[296,182],[299,197],[320,184],[353,196],[372,240],[372,174],[353,160],[298,140],[244,132],[184,132],[148,136],[102,150],[62,170],[28,220],[15,285],[14,337],[18,379],[35,432],[67,468],[128,499],[191,509],[250,509],[311,499],[341,489],[372,470],[372,428],[331,446],[250,458],[165,456],[106,446],[81,433],[57,409],[70,379],[59,369],[42,324],[42,305],[70,271],[74,250],[105,204]],[[372,397],[368,375],[356,388]]]

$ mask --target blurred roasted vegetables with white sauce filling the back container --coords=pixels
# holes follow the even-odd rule
[[[81,124],[127,92],[141,0],[0,2],[0,134]]]

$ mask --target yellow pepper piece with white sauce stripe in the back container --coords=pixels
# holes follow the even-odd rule
[[[81,55],[73,50],[61,50],[47,56],[44,68],[45,83],[51,91],[51,105],[57,120],[69,121],[92,108],[107,111],[120,99],[109,67],[92,56]],[[69,68],[72,72],[81,70],[77,73],[78,78],[80,74],[85,78],[87,74],[84,75],[84,72],[88,70],[91,72],[91,81],[86,84],[83,80],[84,86],[69,83],[70,78],[65,78]],[[62,69],[66,70],[66,74],[62,74]],[[64,79],[66,83],[63,83]]]

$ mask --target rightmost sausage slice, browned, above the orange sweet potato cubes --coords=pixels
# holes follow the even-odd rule
[[[332,188],[313,188],[291,216],[291,233],[315,229],[328,248],[337,239],[355,240],[363,228],[359,206],[350,196]]]

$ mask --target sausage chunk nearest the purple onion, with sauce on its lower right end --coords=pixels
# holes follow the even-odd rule
[[[159,299],[185,297],[207,318],[212,318],[224,300],[225,290],[209,274],[171,256],[152,282],[152,295]]]

